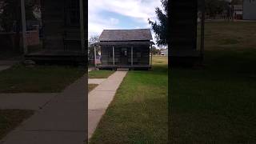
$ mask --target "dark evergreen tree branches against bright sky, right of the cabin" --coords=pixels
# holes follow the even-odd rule
[[[164,11],[162,11],[159,7],[155,8],[155,13],[157,14],[157,18],[159,22],[152,22],[150,18],[148,19],[149,24],[151,25],[152,29],[154,30],[155,38],[157,40],[158,46],[166,46],[167,45],[167,22],[168,22],[168,0],[161,0],[162,2],[162,8]]]

